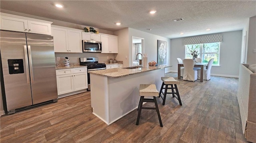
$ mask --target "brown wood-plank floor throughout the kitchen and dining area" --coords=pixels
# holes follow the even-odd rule
[[[177,79],[175,72],[166,76]],[[238,78],[211,76],[204,82],[180,81],[182,106],[172,96],[167,96],[164,106],[157,98],[164,127],[160,127],[154,110],[142,110],[139,125],[137,110],[106,125],[92,114],[90,92],[84,92],[2,116],[0,142],[247,143],[236,97]]]

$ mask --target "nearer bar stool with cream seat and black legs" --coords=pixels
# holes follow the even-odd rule
[[[144,98],[144,96],[153,96],[153,99]],[[138,106],[138,117],[136,125],[139,124],[140,113],[142,109],[153,109],[157,112],[160,127],[163,127],[160,112],[157,106],[156,96],[158,96],[158,90],[156,89],[155,84],[140,84],[140,102]],[[142,107],[143,102],[154,102],[156,107]]]

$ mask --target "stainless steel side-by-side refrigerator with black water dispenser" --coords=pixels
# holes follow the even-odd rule
[[[0,31],[1,89],[5,112],[58,98],[53,37]],[[5,102],[6,101],[6,102]]]

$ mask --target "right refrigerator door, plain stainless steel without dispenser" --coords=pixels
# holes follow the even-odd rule
[[[33,104],[58,98],[53,37],[27,33]]]

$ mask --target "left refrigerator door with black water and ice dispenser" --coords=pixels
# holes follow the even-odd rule
[[[26,35],[19,32],[0,32],[0,52],[7,110],[32,105]],[[22,63],[22,66],[19,65]],[[9,71],[9,67],[12,68],[10,71],[14,70],[14,73]],[[20,68],[24,68],[24,72],[15,72]]]

